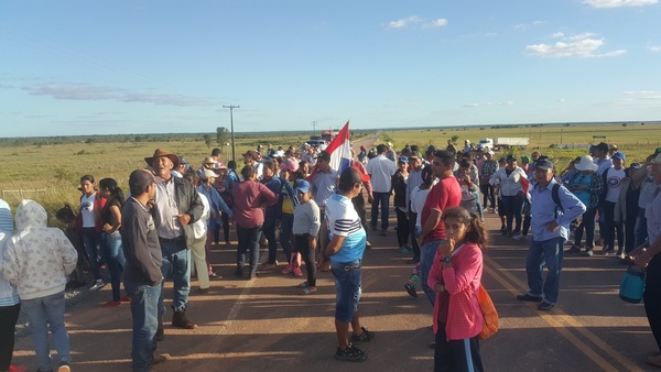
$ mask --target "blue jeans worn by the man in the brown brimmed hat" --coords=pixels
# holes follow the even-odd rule
[[[163,284],[170,274],[172,274],[173,291],[172,309],[181,311],[186,309],[188,304],[188,293],[191,292],[191,251],[186,248],[186,240],[182,237],[177,241],[161,241],[161,253],[163,253],[163,263],[161,272],[163,273],[163,283],[161,283],[161,296],[159,297],[159,316],[165,314],[163,305]]]

